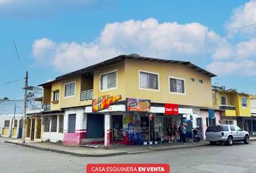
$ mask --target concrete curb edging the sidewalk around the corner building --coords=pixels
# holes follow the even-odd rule
[[[256,138],[252,138],[250,139],[250,141],[256,141]],[[167,151],[167,150],[175,150],[175,149],[182,149],[182,148],[197,148],[200,146],[210,146],[210,144],[208,143],[202,143],[202,144],[195,144],[195,145],[187,145],[187,146],[177,146],[175,148],[148,148],[149,151],[138,151],[138,152],[119,152],[119,153],[111,153],[111,154],[80,154],[80,153],[74,153],[71,151],[63,151],[63,150],[58,150],[58,149],[53,149],[53,148],[43,148],[40,146],[33,146],[30,144],[26,144],[26,143],[17,143],[17,142],[12,142],[12,141],[4,141],[4,143],[12,143],[15,145],[19,145],[19,146],[25,146],[25,147],[29,147],[29,148],[35,148],[38,150],[43,150],[43,151],[51,151],[51,152],[55,152],[55,153],[59,153],[59,154],[69,154],[72,156],[80,156],[80,157],[108,157],[108,156],[121,156],[121,155],[128,155],[128,154],[144,154],[144,153],[150,153],[150,152],[154,152],[154,151]]]

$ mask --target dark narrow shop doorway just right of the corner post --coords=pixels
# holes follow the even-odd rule
[[[123,136],[123,115],[112,115],[113,141],[121,141]]]

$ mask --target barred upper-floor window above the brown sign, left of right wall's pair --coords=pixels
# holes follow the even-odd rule
[[[140,71],[140,89],[158,90],[158,74]]]

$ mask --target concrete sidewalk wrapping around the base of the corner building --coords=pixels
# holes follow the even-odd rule
[[[88,148],[88,147],[80,147],[80,146],[63,146],[61,144],[55,143],[43,143],[43,142],[31,142],[26,141],[26,143],[22,143],[21,139],[12,139],[12,138],[0,138],[0,141],[4,141],[5,143],[12,143],[20,146],[27,146],[30,148],[36,148],[43,151],[53,151],[61,154],[70,154],[73,156],[90,156],[90,157],[103,157],[103,156],[118,156],[124,154],[142,154],[153,151],[166,151],[173,150],[179,148],[195,148],[208,146],[209,143],[207,141],[200,141],[200,143],[187,143],[184,144],[169,144],[164,143],[163,145],[150,145],[149,146],[125,146],[125,145],[111,145],[110,149],[104,148]],[[256,141],[255,137],[250,138],[250,141]]]

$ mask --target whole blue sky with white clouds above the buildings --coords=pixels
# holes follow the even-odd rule
[[[190,61],[256,94],[256,0],[0,0],[0,99],[121,54]],[[10,82],[11,81],[11,82]],[[8,83],[9,82],[9,83]]]

